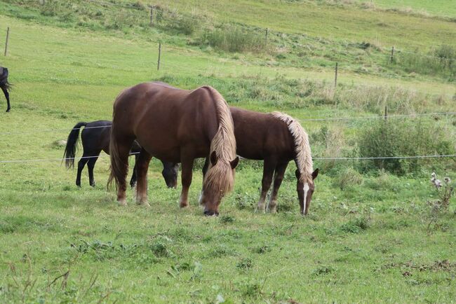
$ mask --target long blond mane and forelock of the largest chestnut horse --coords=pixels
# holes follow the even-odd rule
[[[215,151],[217,163],[210,164],[203,184],[210,185],[222,195],[231,191],[234,185],[231,161],[236,158],[236,138],[234,137],[234,123],[227,102],[217,90],[210,86],[204,86],[213,97],[217,109],[218,130],[210,141],[210,154]]]

